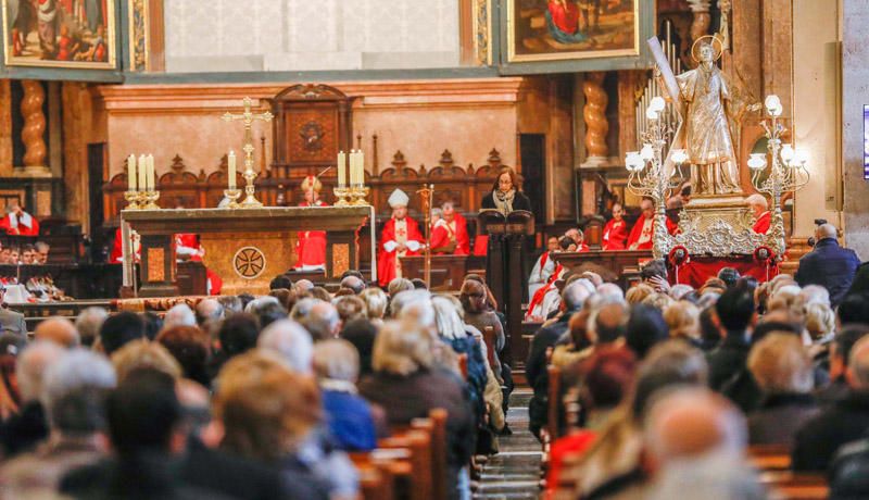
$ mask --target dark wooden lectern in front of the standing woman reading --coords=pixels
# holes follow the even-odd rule
[[[517,210],[505,217],[495,210],[483,210],[477,222],[480,234],[489,235],[486,280],[507,316],[507,349],[521,352],[514,345],[522,341],[522,291],[528,288],[524,253],[527,239],[534,234],[534,215]]]

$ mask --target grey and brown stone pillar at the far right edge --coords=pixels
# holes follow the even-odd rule
[[[845,243],[869,259],[869,182],[864,179],[864,105],[869,103],[869,11],[842,0],[842,161]]]

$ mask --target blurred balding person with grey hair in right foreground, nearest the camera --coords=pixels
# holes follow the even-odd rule
[[[660,397],[646,413],[644,440],[656,468],[646,498],[767,498],[746,464],[745,420],[722,396],[692,387]]]

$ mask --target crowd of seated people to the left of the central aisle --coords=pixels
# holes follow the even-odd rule
[[[162,316],[3,326],[3,497],[355,499],[350,453],[443,409],[449,498],[470,498],[471,457],[508,432],[503,318],[478,276],[388,290],[280,275]]]

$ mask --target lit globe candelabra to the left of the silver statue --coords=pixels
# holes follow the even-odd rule
[[[665,207],[669,191],[683,180],[682,164],[688,160],[683,149],[669,152],[669,162],[665,153],[667,138],[672,135],[670,126],[662,120],[665,109],[662,97],[655,97],[646,108],[646,128],[640,134],[643,147],[640,151],[630,151],[625,157],[628,170],[628,189],[634,195],[651,198],[655,203],[655,222],[652,253],[662,259],[670,247],[667,233],[667,214]]]

